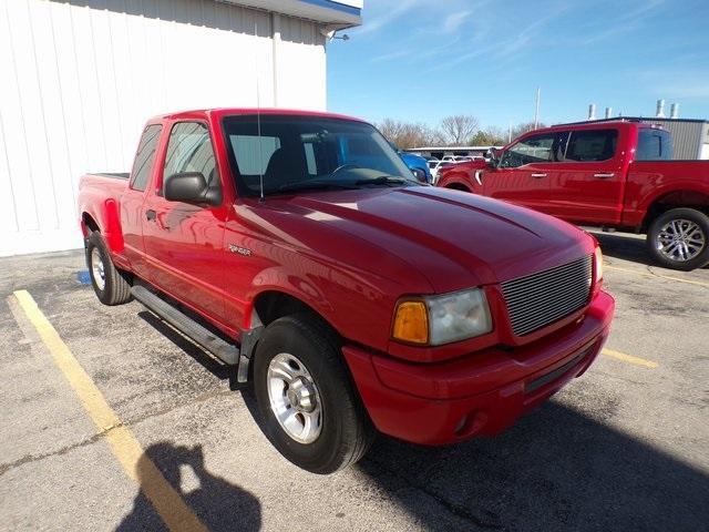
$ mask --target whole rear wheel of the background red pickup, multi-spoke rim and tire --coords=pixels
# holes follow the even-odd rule
[[[700,268],[709,263],[709,216],[693,208],[672,208],[650,224],[647,246],[666,268]]]

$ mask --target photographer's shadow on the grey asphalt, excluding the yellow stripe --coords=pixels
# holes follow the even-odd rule
[[[143,482],[150,478],[150,461],[160,469],[167,482],[181,494],[192,511],[210,531],[251,532],[260,529],[261,507],[258,499],[242,488],[206,470],[202,446],[175,447],[169,442],[160,442],[148,447],[138,459],[137,477]],[[183,471],[194,473],[192,482],[198,481],[198,488],[185,491]],[[119,524],[117,532],[167,530],[153,510],[143,490],[133,503],[133,511]]]

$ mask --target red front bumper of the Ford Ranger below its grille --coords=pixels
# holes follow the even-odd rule
[[[615,301],[599,291],[580,323],[524,347],[411,364],[351,345],[343,354],[381,432],[422,444],[495,434],[580,376],[603,348]]]

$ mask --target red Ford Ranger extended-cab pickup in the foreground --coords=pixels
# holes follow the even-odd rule
[[[614,313],[593,236],[418,183],[370,124],[152,119],[133,171],[79,193],[93,288],[135,298],[251,383],[264,430],[328,473],[376,430],[493,434],[583,374]]]

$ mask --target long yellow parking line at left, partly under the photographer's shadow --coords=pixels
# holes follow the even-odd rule
[[[155,463],[147,456],[144,456],[143,448],[133,432],[111,409],[96,385],[61,339],[56,329],[39,309],[32,296],[27,290],[18,290],[14,293],[14,297],[51,352],[54,362],[81,399],[100,433],[105,436],[113,454],[127,475],[140,483],[141,490],[150,499],[167,528],[172,531],[206,532],[207,528],[199,521],[199,518],[169,485]],[[140,479],[138,460],[141,462]]]

